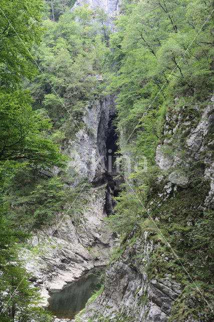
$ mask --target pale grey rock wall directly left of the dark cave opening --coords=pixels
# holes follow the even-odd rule
[[[85,111],[85,126],[70,141],[65,153],[71,157],[70,166],[90,182],[103,179],[106,169],[106,139],[108,124],[115,114],[114,97],[106,96],[91,102]]]

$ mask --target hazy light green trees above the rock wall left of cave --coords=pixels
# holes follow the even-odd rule
[[[43,21],[47,32],[34,53],[40,74],[24,86],[32,91],[33,108],[42,113],[45,108],[46,117],[54,122],[52,133],[64,133],[58,136],[59,143],[75,138],[86,105],[101,94],[95,75],[101,73],[107,50],[106,22],[102,10],[93,12],[88,6],[65,12],[58,23]]]

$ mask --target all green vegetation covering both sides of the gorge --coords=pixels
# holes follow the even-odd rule
[[[138,233],[148,229],[161,243],[148,265],[149,276],[169,272],[183,283],[173,317],[185,320],[186,314],[198,316],[203,310],[201,320],[207,320],[210,310],[204,299],[211,300],[212,209],[203,209],[209,189],[203,171],[211,154],[205,150],[188,166],[178,165],[176,171],[184,171],[189,180],[162,200],[158,193],[170,173],[156,167],[155,153],[167,139],[164,153],[185,161],[189,129],[183,124],[190,122],[195,128],[209,103],[213,4],[124,0],[113,33],[103,10],[84,6],[71,11],[73,4],[73,0],[1,2],[0,318],[51,320],[48,313],[29,305],[38,298],[18,258],[18,243],[26,231],[54,220],[66,203],[75,200],[82,186],[77,187],[74,169],[64,170],[68,157],[61,151],[83,128],[86,105],[114,93],[119,153],[131,155],[135,171],[131,187],[126,184],[116,198],[119,203],[110,226],[124,240],[136,225]],[[106,82],[99,83],[96,75],[101,73]],[[173,115],[176,118],[166,131],[166,116]],[[212,134],[210,130],[205,138],[207,145]],[[53,177],[48,170],[54,166],[59,171]],[[158,184],[160,176],[164,179]],[[20,228],[25,232],[17,231]],[[171,255],[166,240],[179,260]],[[162,254],[167,254],[168,263],[160,261]],[[199,293],[186,272],[181,273],[181,263]],[[190,294],[198,306],[189,306]]]

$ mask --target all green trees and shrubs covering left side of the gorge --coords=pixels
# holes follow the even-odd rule
[[[101,95],[95,75],[101,73],[110,29],[101,9],[92,12],[86,6],[71,12],[73,4],[15,0],[0,7],[4,322],[51,320],[35,308],[41,299],[18,257],[19,243],[32,229],[53,222],[56,214],[76,216],[86,207],[81,192],[89,185],[71,167],[64,170],[68,157],[61,151],[83,127],[87,103]],[[49,171],[54,166],[55,176]],[[77,196],[78,203],[68,209]]]

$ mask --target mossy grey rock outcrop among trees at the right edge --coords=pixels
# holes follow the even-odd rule
[[[177,100],[175,100],[175,111],[171,115],[166,115],[164,124],[164,135],[166,137],[170,135],[170,138],[165,138],[156,150],[156,164],[168,175],[169,182],[182,188],[191,185],[192,178],[189,170],[194,165],[198,170],[195,176],[203,175],[210,180],[206,206],[209,202],[213,206],[214,197],[212,175],[214,142],[211,136],[207,139],[214,125],[212,100],[203,111],[195,104],[190,115],[185,115],[188,106],[177,107]],[[170,152],[174,150],[174,152],[169,153],[167,150]]]

